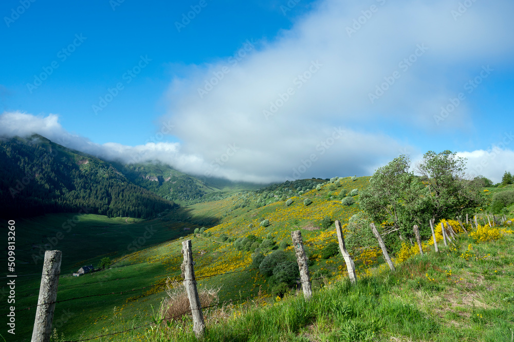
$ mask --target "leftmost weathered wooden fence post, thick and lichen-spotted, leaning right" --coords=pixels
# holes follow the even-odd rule
[[[52,333],[53,311],[56,308],[57,287],[61,273],[62,252],[47,250],[39,287],[38,308],[35,311],[31,342],[48,342]]]

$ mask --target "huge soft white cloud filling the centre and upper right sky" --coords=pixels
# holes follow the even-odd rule
[[[319,2],[273,42],[244,45],[237,64],[189,66],[170,85],[164,120],[184,151],[208,164],[238,146],[222,166],[227,176],[291,177],[333,127],[344,136],[301,176],[371,174],[398,150],[419,152],[387,134],[394,125],[426,137],[469,129],[469,101],[442,121],[434,115],[483,66],[510,63],[512,3],[458,4]]]

